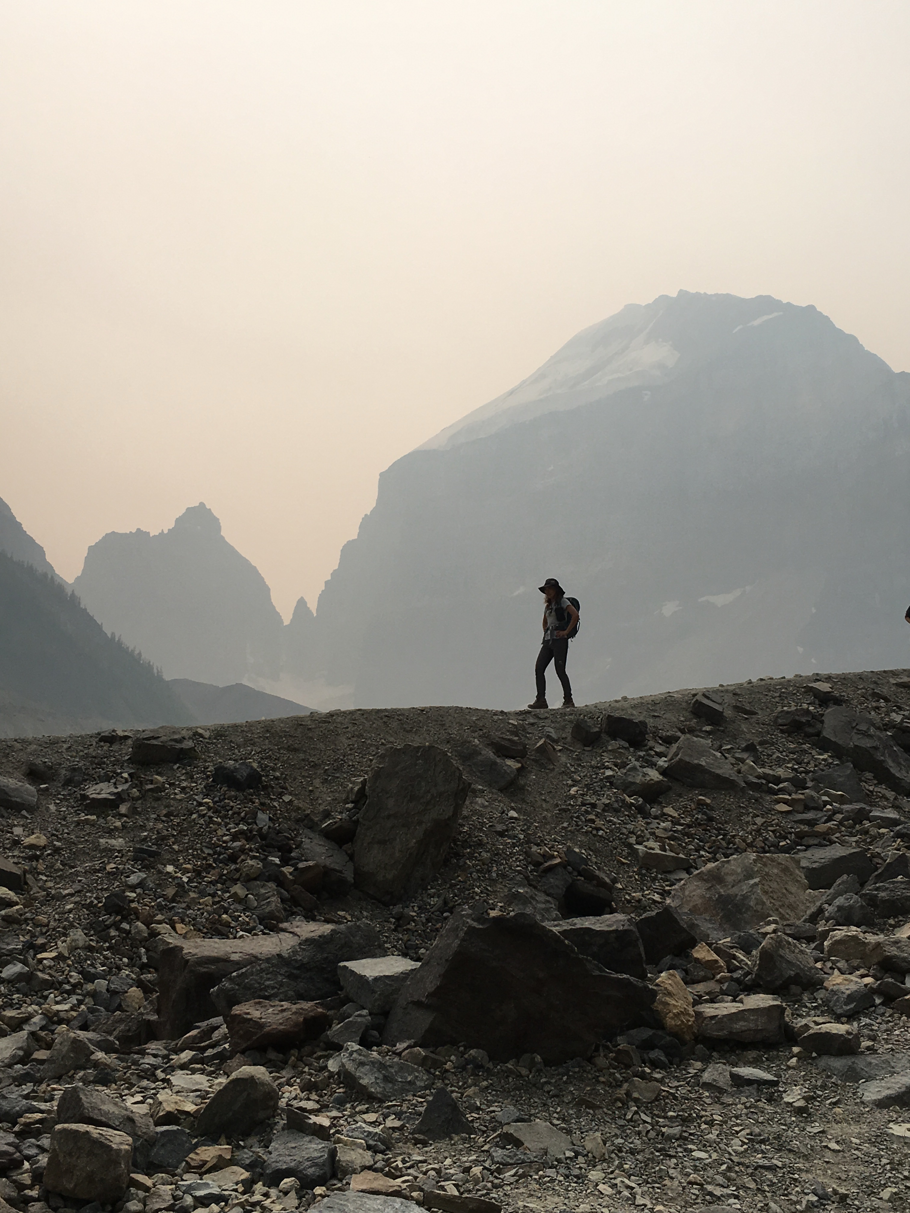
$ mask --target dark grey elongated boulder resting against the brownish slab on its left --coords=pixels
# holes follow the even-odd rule
[[[379,932],[369,922],[307,923],[290,949],[232,973],[215,986],[216,1013],[227,1015],[238,1003],[313,1002],[339,992],[339,964],[382,951]]]

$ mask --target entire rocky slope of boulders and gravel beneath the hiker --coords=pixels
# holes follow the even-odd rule
[[[0,742],[0,1197],[902,1208],[909,748],[894,671]]]

